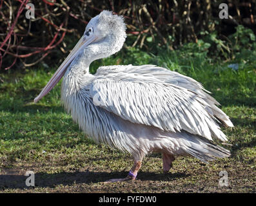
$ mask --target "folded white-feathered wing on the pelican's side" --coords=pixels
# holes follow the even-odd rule
[[[102,67],[90,94],[96,106],[135,124],[227,140],[214,117],[216,111],[225,115],[214,105],[216,100],[179,73],[152,65]]]

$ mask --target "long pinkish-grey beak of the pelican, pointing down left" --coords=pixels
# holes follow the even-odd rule
[[[43,98],[45,95],[47,95],[47,93],[49,91],[51,91],[52,88],[54,88],[54,86],[57,84],[57,82],[59,82],[59,80],[61,80],[61,77],[63,77],[64,73],[66,72],[68,65],[70,65],[70,63],[75,59],[77,54],[81,50],[83,50],[86,46],[88,46],[92,42],[95,42],[96,40],[97,40],[97,37],[94,37],[94,36],[89,37],[88,39],[81,37],[81,39],[79,40],[79,42],[77,42],[77,44],[75,45],[72,52],[70,52],[70,54],[68,55],[68,57],[66,57],[66,59],[61,64],[61,66],[59,66],[59,68],[54,73],[54,75],[49,80],[49,82],[46,84],[46,86],[44,86],[41,93],[39,93],[39,95],[37,97],[35,97],[35,99],[34,99],[35,103],[38,102],[41,98]]]

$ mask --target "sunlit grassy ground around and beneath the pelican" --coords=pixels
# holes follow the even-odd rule
[[[228,67],[239,64],[239,70]],[[123,49],[92,64],[157,64],[179,71],[212,92],[235,125],[224,133],[231,157],[202,164],[178,157],[170,174],[162,174],[159,154],[144,159],[136,182],[103,184],[126,175],[132,156],[97,145],[79,130],[60,102],[60,83],[32,103],[56,68],[0,73],[1,192],[256,192],[256,61],[212,61],[204,52],[159,53]],[[35,187],[25,186],[25,172],[35,172]],[[218,187],[226,170],[229,186]]]

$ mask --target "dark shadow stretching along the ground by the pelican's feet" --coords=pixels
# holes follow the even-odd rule
[[[54,188],[58,185],[72,185],[73,183],[104,183],[112,178],[124,178],[126,172],[75,172],[75,173],[35,173],[35,187],[50,187]],[[159,180],[159,181],[172,181],[179,178],[190,176],[185,173],[168,173],[168,174],[155,174],[150,172],[140,172],[137,176],[138,180]],[[0,191],[5,189],[30,189],[26,186],[26,178],[28,176],[15,175],[15,174],[0,174]],[[111,183],[108,183],[111,184]]]

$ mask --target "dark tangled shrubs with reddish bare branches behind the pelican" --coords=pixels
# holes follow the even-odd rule
[[[35,19],[25,18],[26,3],[35,5]],[[219,19],[221,3],[228,5],[228,19]],[[125,46],[154,54],[203,39],[215,57],[234,58],[234,50],[240,48],[232,48],[237,39],[232,42],[228,36],[236,32],[237,25],[256,32],[255,0],[1,0],[0,68],[58,64],[81,37],[88,21],[102,10],[124,15],[128,28]],[[252,38],[248,31],[242,35]]]

